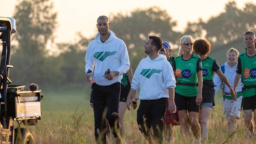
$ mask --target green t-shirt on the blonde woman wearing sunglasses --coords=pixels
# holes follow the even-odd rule
[[[177,82],[197,83],[197,72],[202,70],[200,56],[192,55],[188,60],[183,60],[182,56],[175,57],[172,64]],[[198,86],[176,85],[175,92],[187,97],[197,96]]]

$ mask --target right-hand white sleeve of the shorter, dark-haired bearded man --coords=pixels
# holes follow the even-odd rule
[[[166,89],[176,87],[176,80],[173,74],[173,69],[171,64],[168,61],[166,61],[166,63],[163,64],[162,77],[163,77]]]

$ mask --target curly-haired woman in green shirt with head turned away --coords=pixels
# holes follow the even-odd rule
[[[211,45],[207,40],[199,39],[194,42],[194,52],[198,54],[202,60],[203,69],[203,101],[200,105],[199,124],[201,127],[201,135],[203,142],[208,141],[208,117],[214,104],[214,83],[213,73],[215,72],[219,78],[228,86],[232,97],[235,92],[226,76],[222,73],[216,60],[207,56],[211,50]]]

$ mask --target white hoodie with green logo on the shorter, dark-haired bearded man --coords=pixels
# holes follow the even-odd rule
[[[151,60],[149,56],[140,61],[135,70],[131,88],[140,89],[139,99],[155,100],[169,98],[168,88],[175,88],[175,77],[171,64],[165,56]]]

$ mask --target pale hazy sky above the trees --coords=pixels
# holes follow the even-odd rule
[[[183,30],[187,21],[206,21],[210,16],[216,16],[224,11],[225,4],[230,0],[52,0],[54,11],[58,12],[59,27],[55,31],[56,42],[73,42],[76,32],[80,31],[86,37],[94,37],[96,20],[100,15],[109,13],[130,12],[136,8],[159,6],[166,9],[170,16],[177,20],[175,30]],[[255,0],[235,0],[239,8],[245,2]],[[14,14],[18,0],[0,0],[2,7],[0,16],[11,17]],[[3,6],[4,4],[4,6]],[[111,22],[111,20],[110,20]],[[17,28],[19,30],[19,28]]]

